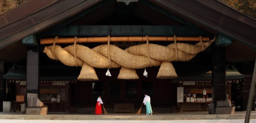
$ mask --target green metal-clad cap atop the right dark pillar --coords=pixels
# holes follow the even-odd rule
[[[217,47],[225,47],[231,45],[231,42],[231,38],[228,36],[220,33],[216,35],[215,46]]]

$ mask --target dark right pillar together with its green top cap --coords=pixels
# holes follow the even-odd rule
[[[223,34],[217,34],[212,45],[212,85],[214,112],[217,101],[226,101],[226,47],[231,39]],[[229,95],[231,96],[231,95]]]

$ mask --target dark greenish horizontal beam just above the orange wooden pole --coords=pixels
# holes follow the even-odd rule
[[[81,25],[64,26],[40,34],[42,37],[53,36],[214,36],[214,34],[200,28],[188,26],[162,26],[162,25]]]

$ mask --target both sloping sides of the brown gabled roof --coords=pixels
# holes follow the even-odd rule
[[[0,15],[0,49],[111,0],[30,0]],[[116,0],[112,0],[116,1]],[[142,0],[145,1],[145,0]],[[216,0],[149,0],[199,27],[256,49],[256,20]]]

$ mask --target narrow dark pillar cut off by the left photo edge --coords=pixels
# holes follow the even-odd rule
[[[5,81],[4,81],[4,62],[0,62],[0,112],[3,111],[3,101],[5,101]]]

